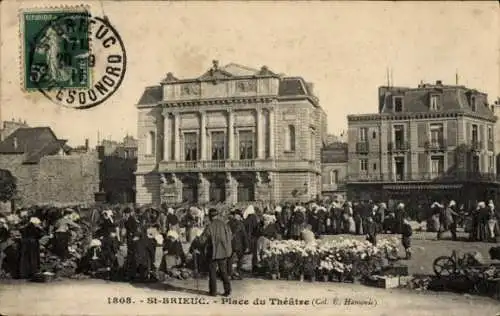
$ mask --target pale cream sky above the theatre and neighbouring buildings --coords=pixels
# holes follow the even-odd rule
[[[203,74],[219,60],[314,83],[329,133],[347,128],[346,115],[377,112],[378,87],[421,81],[459,84],[500,97],[500,11],[489,2],[146,2],[79,1],[103,12],[124,42],[128,63],[121,87],[92,109],[62,108],[22,90],[22,8],[43,1],[4,1],[1,9],[0,119],[50,126],[69,144],[95,145],[137,134],[144,87],[167,72]],[[46,5],[75,2],[46,1]]]

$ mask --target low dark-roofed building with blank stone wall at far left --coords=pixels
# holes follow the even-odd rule
[[[49,127],[17,128],[0,142],[0,169],[16,178],[20,207],[91,204],[98,191],[96,153],[72,151]]]

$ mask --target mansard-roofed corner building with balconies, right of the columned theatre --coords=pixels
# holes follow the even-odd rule
[[[495,198],[496,117],[487,95],[458,85],[380,87],[378,113],[348,116],[348,198]]]

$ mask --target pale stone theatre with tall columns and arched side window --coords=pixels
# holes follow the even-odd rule
[[[301,77],[214,61],[197,78],[168,73],[137,109],[140,205],[321,193],[326,115]]]

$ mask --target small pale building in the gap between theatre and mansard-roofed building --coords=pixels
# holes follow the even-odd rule
[[[322,196],[331,199],[346,199],[348,144],[335,141],[327,143],[321,150]]]

